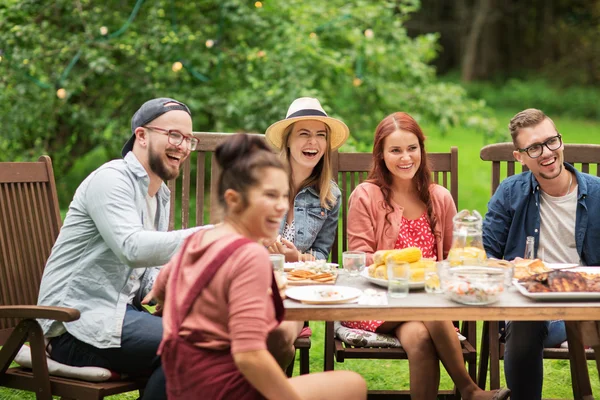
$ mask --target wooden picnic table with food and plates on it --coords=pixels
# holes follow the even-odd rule
[[[337,285],[359,289],[385,290],[373,286],[361,277],[340,275]],[[600,321],[600,302],[534,301],[511,288],[500,300],[488,306],[466,306],[441,294],[429,294],[422,290],[411,291],[402,299],[388,299],[388,305],[365,306],[358,304],[306,305],[286,299],[285,319],[296,321],[548,321],[565,320],[569,342],[573,394],[575,399],[593,400],[592,389],[585,359],[581,321]],[[594,324],[597,326],[597,324]],[[585,330],[585,329],[584,329]],[[490,328],[490,339],[497,329]],[[326,337],[325,351],[333,344]],[[600,340],[591,343],[596,362],[600,363]],[[497,346],[496,346],[497,347]],[[494,351],[492,349],[492,351]],[[600,365],[600,364],[599,364]]]

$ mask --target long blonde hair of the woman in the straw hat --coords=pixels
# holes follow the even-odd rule
[[[279,151],[279,156],[284,164],[289,165],[288,169],[288,177],[290,181],[290,205],[293,206],[294,199],[296,197],[297,192],[295,191],[295,185],[293,182],[293,171],[290,164],[290,148],[288,146],[288,142],[290,139],[290,134],[294,129],[294,124],[291,124],[283,131],[283,137],[281,140],[282,146]],[[329,125],[325,124],[325,129],[327,131],[327,146],[325,148],[325,154],[321,157],[321,160],[315,165],[310,176],[302,182],[300,185],[301,188],[305,188],[307,186],[314,186],[319,193],[319,200],[321,203],[321,207],[326,208],[328,210],[331,209],[335,205],[335,195],[333,194],[332,189],[332,171],[331,171],[331,129]]]

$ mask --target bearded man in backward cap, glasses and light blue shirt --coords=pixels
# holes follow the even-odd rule
[[[156,351],[162,319],[145,312],[157,266],[195,229],[167,232],[170,192],[198,144],[188,107],[147,101],[131,119],[132,136],[113,160],[77,189],[44,269],[38,304],[71,307],[77,321],[43,320],[51,357],[71,366],[122,374],[152,373],[144,399],[166,398]]]

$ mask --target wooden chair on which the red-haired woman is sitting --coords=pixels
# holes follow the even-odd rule
[[[443,185],[450,190],[454,203],[458,204],[458,149],[452,147],[449,153],[428,153],[434,182]],[[368,171],[371,169],[371,153],[338,153],[333,157],[334,172],[338,177],[338,185],[342,191],[342,205],[340,206],[341,229],[338,229],[332,250],[332,262],[341,263],[342,252],[348,249],[348,237],[346,235],[348,226],[348,197],[352,190],[364,181]],[[458,324],[458,323],[455,323]],[[467,338],[462,342],[463,356],[468,364],[468,371],[473,381],[477,373],[477,352],[473,347],[476,345],[477,333],[475,321],[465,321],[462,324],[461,333]],[[402,348],[377,348],[377,347],[354,347],[335,337],[333,322],[325,325],[325,355],[324,369],[334,369],[334,358],[337,362],[345,359],[407,359],[406,352]],[[369,398],[398,398],[408,397],[409,391],[369,391]],[[460,398],[460,394],[454,391],[440,391],[439,398]]]

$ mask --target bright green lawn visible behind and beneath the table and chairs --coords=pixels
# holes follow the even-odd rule
[[[507,126],[510,118],[518,109],[500,110],[496,112],[500,126]],[[552,117],[552,116],[551,116]],[[586,121],[572,118],[553,118],[557,128],[563,134],[567,143],[598,143],[600,142],[600,122]],[[491,167],[479,158],[479,150],[485,144],[483,135],[462,128],[456,128],[442,135],[435,126],[424,125],[423,130],[428,137],[426,142],[428,151],[446,152],[451,146],[459,149],[459,209],[476,209],[482,215],[487,210],[487,201],[490,196]],[[481,323],[478,324],[479,327]],[[323,335],[322,322],[311,323],[313,329],[313,348],[311,350],[311,371],[323,370]],[[481,334],[478,335],[481,337]],[[477,347],[479,348],[479,347]],[[593,363],[588,363],[592,389],[600,396],[600,382],[598,372]],[[348,360],[337,364],[336,369],[349,369],[359,372],[367,379],[370,389],[398,389],[408,388],[408,364],[406,361],[389,360]],[[295,367],[295,373],[299,365]],[[443,370],[443,369],[442,369]],[[501,368],[502,385],[505,385],[504,371]],[[489,384],[489,379],[488,379]],[[445,372],[442,372],[442,389],[452,388],[452,382]],[[571,377],[568,361],[544,361],[544,392],[545,398],[572,398]],[[0,399],[21,400],[34,399],[30,393],[11,391],[0,388]],[[111,396],[108,399],[130,400],[136,399],[137,393],[128,393]]]

